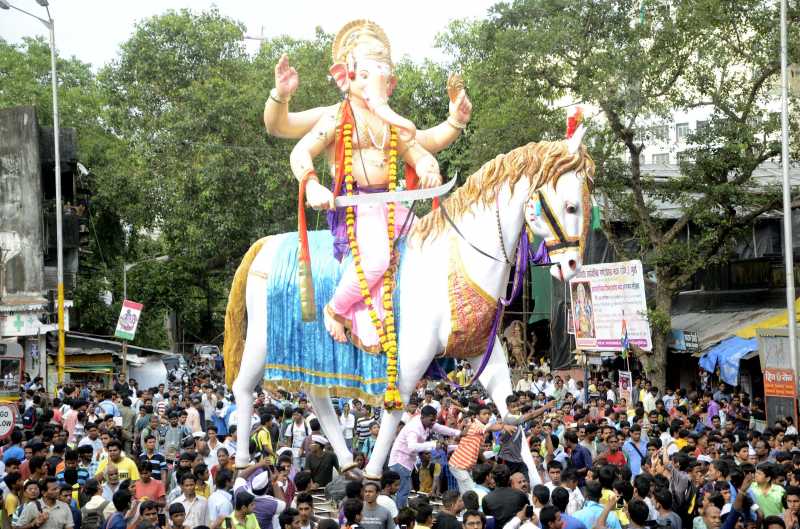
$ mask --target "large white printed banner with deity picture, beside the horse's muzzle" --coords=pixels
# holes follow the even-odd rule
[[[570,280],[570,297],[578,349],[652,350],[641,261],[583,266]]]

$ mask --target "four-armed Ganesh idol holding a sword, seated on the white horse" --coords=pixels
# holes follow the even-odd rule
[[[410,182],[407,172],[408,187],[440,185],[439,165],[432,152],[458,137],[472,107],[463,84],[451,78],[450,116],[444,123],[417,131],[414,123],[395,112],[388,102],[397,84],[391,47],[374,22],[346,24],[334,39],[332,58],[330,74],[342,91],[341,103],[289,113],[288,99],[298,82],[284,56],[276,66],[276,87],[265,107],[264,121],[277,136],[302,134],[290,158],[301,196],[310,207],[328,210],[334,255],[340,260],[348,253],[351,257],[323,311],[325,328],[338,342],[347,341],[347,328],[357,346],[378,350],[380,322],[391,312],[390,267],[397,258],[392,243],[413,223],[413,214],[395,202],[336,208],[334,198],[394,191],[399,160],[415,176],[415,182]],[[313,161],[320,155],[327,157],[331,167],[331,188],[320,182],[314,170]]]

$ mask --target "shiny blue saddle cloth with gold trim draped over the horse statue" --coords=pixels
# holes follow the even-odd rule
[[[367,353],[349,342],[337,343],[325,330],[322,311],[333,297],[349,258],[341,263],[334,259],[329,231],[308,232],[308,246],[317,319],[304,322],[300,315],[298,238],[294,233],[287,234],[281,239],[268,272],[264,380],[268,386],[289,390],[320,386],[334,395],[379,402],[386,390],[386,356]],[[404,246],[400,245],[401,256]],[[395,314],[399,314],[398,291]]]

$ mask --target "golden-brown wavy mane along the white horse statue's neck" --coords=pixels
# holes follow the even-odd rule
[[[590,181],[594,177],[594,161],[586,147],[581,145],[578,152],[570,154],[566,141],[531,142],[483,164],[443,204],[455,220],[476,204],[489,206],[497,199],[503,184],[508,183],[509,189],[513,189],[523,175],[530,176],[529,193],[532,195],[547,184],[555,186],[561,175],[570,171]],[[424,243],[445,228],[442,209],[438,208],[415,222],[410,236]]]

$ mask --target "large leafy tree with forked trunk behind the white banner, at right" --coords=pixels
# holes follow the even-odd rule
[[[796,12],[791,19],[794,32]],[[659,385],[675,294],[780,206],[777,190],[753,181],[755,168],[780,152],[779,123],[766,107],[780,71],[777,20],[773,4],[760,0],[517,0],[496,5],[486,20],[452,25],[443,38],[478,84],[513,86],[532,103],[509,114],[505,101],[477,97],[498,129],[552,116],[546,108],[555,101],[598,110],[589,140],[595,195],[607,204],[604,232],[618,257],[641,258],[655,272],[651,376]],[[689,138],[680,176],[656,182],[640,165],[645,127],[699,106],[713,110],[709,126]],[[504,141],[487,132],[490,151],[504,150]],[[659,202],[678,205],[679,218],[663,217]]]

